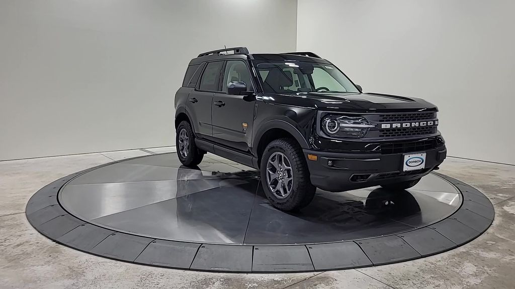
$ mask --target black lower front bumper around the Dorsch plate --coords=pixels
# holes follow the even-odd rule
[[[445,146],[421,152],[426,153],[425,168],[409,172],[402,171],[404,153],[332,153],[305,149],[304,156],[310,169],[311,183],[325,191],[340,192],[422,177],[447,156]],[[317,160],[308,159],[307,154],[316,155]]]

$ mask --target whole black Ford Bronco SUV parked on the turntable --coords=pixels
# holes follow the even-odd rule
[[[316,187],[413,187],[447,154],[435,105],[363,93],[313,52],[201,53],[175,108],[184,165],[210,152],[259,169],[266,196],[282,210],[309,204]]]

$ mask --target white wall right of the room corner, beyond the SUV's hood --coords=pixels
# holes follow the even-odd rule
[[[449,155],[515,164],[515,2],[299,0],[297,50],[440,109]]]

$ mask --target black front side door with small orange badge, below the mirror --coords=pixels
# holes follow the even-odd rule
[[[213,97],[212,123],[215,141],[241,151],[250,151],[255,98],[228,95],[227,84],[243,81],[248,91],[254,91],[248,64],[243,60],[228,60],[222,79],[222,91]]]

